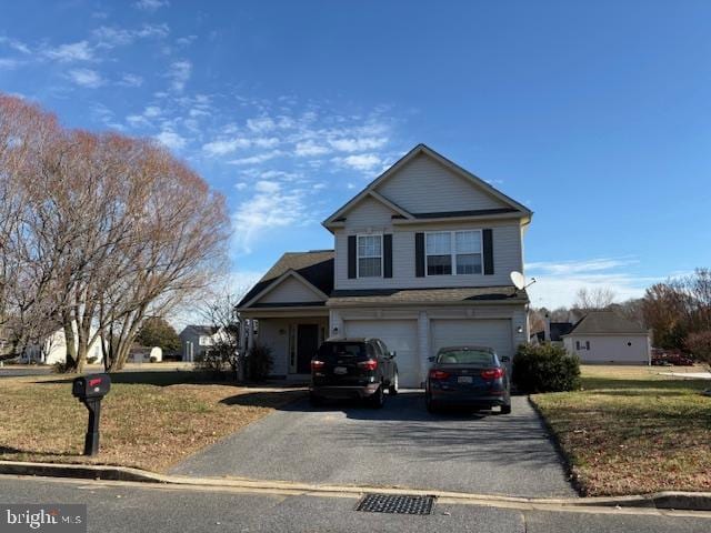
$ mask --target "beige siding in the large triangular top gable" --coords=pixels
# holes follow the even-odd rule
[[[375,190],[411,213],[510,207],[423,154]]]

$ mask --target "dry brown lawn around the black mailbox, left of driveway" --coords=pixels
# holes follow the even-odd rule
[[[161,472],[303,395],[298,390],[166,383],[112,384],[101,406],[100,453],[84,457],[88,415],[71,396],[70,381],[2,379],[0,460],[86,462]]]

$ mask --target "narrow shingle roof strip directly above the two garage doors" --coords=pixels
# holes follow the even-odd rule
[[[465,286],[447,289],[377,289],[363,291],[333,291],[329,305],[370,305],[409,303],[468,303],[468,302],[529,301],[525,291],[513,286]]]

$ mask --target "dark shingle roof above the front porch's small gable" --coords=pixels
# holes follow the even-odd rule
[[[289,270],[298,272],[326,294],[333,290],[333,250],[287,252],[237,304],[241,308]]]

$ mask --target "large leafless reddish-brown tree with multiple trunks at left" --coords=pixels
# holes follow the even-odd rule
[[[66,130],[2,97],[0,180],[1,316],[22,340],[61,324],[69,370],[99,338],[121,369],[147,313],[203,286],[223,258],[224,199],[151,141]]]

